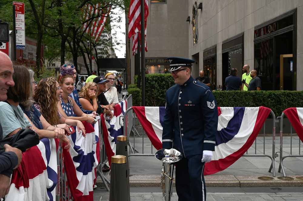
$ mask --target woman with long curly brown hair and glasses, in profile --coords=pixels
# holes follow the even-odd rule
[[[65,119],[58,112],[57,103],[60,101],[61,93],[62,90],[56,78],[48,77],[41,79],[36,87],[34,95],[34,105],[36,109],[45,116],[47,122],[55,127],[62,128],[62,125],[77,126],[78,132],[80,133],[81,130],[85,135],[85,128],[82,122],[73,119]],[[70,131],[68,133],[70,133]]]

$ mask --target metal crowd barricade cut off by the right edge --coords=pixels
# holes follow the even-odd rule
[[[281,172],[282,170],[282,173],[283,173],[283,176],[286,177],[286,174],[285,174],[285,170],[284,170],[284,166],[283,166],[283,160],[287,157],[303,157],[302,154],[300,154],[301,152],[301,141],[300,141],[300,138],[298,138],[298,144],[297,144],[297,147],[295,147],[295,144],[293,144],[293,133],[292,133],[292,125],[290,127],[290,154],[288,155],[285,155],[283,156],[283,117],[284,117],[284,112],[282,112],[281,116],[280,117],[277,117],[280,118],[280,164],[279,164],[279,169],[278,169],[278,172]],[[296,134],[295,134],[296,135]],[[298,135],[296,135],[298,136]],[[295,148],[298,148],[298,154],[293,154],[293,149]]]

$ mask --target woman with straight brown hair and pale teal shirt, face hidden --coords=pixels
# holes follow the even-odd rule
[[[25,115],[19,105],[32,98],[32,81],[28,68],[14,65],[13,80],[15,86],[7,90],[7,101],[0,102],[0,121],[3,129],[3,137],[12,136],[20,129],[32,128],[42,138],[61,138],[70,148],[69,141],[65,136],[65,130],[56,128],[54,131],[38,129]],[[66,141],[67,140],[67,141]]]

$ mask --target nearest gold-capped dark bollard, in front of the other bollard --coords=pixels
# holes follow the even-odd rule
[[[128,201],[129,178],[126,164],[126,156],[112,156],[111,185],[109,190],[110,201]],[[128,187],[127,187],[128,186]]]

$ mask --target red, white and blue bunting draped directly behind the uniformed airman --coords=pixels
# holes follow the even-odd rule
[[[152,145],[162,149],[164,107],[133,106]],[[237,161],[255,141],[271,109],[265,107],[218,107],[216,146],[204,175],[225,170]],[[249,122],[249,124],[248,124]]]

